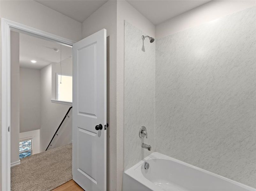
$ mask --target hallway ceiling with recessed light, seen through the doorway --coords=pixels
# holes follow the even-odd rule
[[[41,69],[51,63],[60,62],[60,52],[52,49],[61,49],[61,60],[72,58],[72,48],[57,44],[56,42],[40,39],[19,33],[19,64],[20,67]],[[31,60],[36,60],[32,63]]]

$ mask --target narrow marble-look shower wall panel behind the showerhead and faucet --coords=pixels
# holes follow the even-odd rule
[[[144,42],[140,31],[124,24],[124,170],[154,152],[155,127],[155,42]],[[139,138],[139,128],[148,138]],[[152,146],[152,151],[141,147]]]

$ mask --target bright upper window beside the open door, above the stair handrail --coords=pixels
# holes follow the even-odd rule
[[[72,102],[72,75],[57,73],[57,100]]]

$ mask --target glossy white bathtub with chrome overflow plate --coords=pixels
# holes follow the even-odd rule
[[[149,169],[144,169],[144,163]],[[124,191],[256,191],[252,187],[153,152],[123,174]]]

